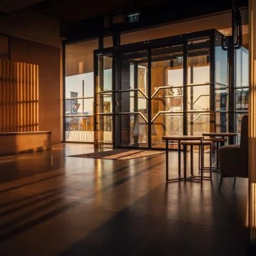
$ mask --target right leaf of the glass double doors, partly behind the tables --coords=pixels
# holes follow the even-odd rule
[[[163,148],[163,136],[183,134],[183,45],[152,49],[151,145]],[[171,147],[176,148],[174,144]]]

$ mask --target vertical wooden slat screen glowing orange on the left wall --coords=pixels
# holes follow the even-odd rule
[[[38,65],[0,60],[0,132],[38,131]]]

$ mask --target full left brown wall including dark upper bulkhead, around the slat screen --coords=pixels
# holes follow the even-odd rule
[[[38,65],[39,131],[61,141],[60,21],[29,9],[0,16],[0,33],[10,36],[10,60]]]

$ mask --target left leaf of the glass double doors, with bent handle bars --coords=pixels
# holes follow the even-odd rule
[[[148,147],[148,52],[120,54],[116,90],[120,147]]]

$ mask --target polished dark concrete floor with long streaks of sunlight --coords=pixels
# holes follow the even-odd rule
[[[245,255],[247,179],[166,185],[164,154],[68,157],[93,150],[0,157],[0,255]]]

